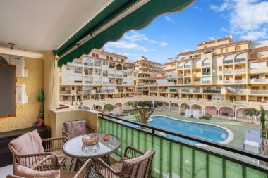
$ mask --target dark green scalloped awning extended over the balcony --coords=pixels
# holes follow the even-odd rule
[[[145,0],[142,0],[145,1]],[[85,27],[79,30],[59,49],[54,51],[54,54],[59,57],[58,66],[61,67],[68,62],[72,62],[75,58],[80,58],[83,54],[88,54],[92,49],[101,49],[106,42],[115,42],[120,39],[128,30],[139,30],[146,27],[159,15],[163,13],[178,12],[189,6],[195,0],[148,0],[148,2],[130,14],[123,17],[118,22],[113,23],[110,27],[96,36],[98,32],[111,20],[114,20],[118,15],[135,7],[135,4],[141,3],[139,0],[114,0],[109,6],[104,8],[95,18],[93,18]],[[90,36],[92,38],[90,38]],[[84,43],[80,43],[85,38]]]

